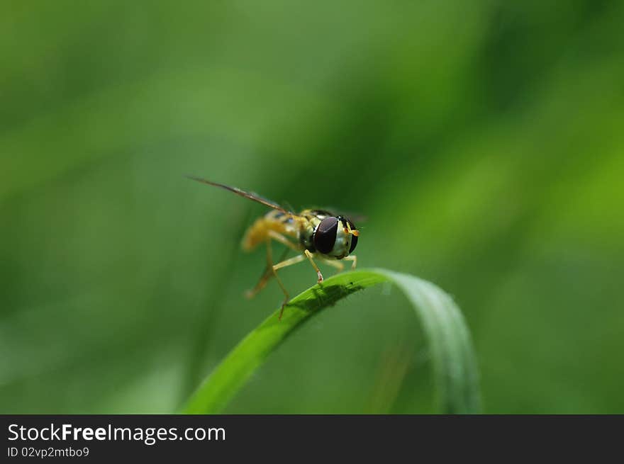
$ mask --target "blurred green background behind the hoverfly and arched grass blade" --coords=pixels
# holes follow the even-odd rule
[[[265,208],[195,174],[366,215],[362,268],[462,307],[485,412],[624,413],[623,24],[621,1],[4,1],[0,412],[173,412],[278,307],[243,297]],[[411,311],[340,302],[226,412],[431,412]]]

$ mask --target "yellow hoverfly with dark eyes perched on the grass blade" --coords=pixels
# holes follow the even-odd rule
[[[272,211],[258,218],[247,229],[245,237],[243,237],[243,249],[251,251],[259,244],[264,243],[267,245],[267,268],[255,288],[247,292],[247,296],[251,298],[256,295],[264,288],[264,285],[267,285],[269,278],[274,277],[284,292],[284,302],[282,303],[282,311],[279,312],[279,319],[282,319],[284,306],[288,304],[290,297],[282,280],[277,276],[278,269],[308,259],[316,271],[318,283],[321,283],[323,282],[323,274],[316,266],[315,259],[338,268],[338,271],[342,271],[344,268],[344,265],[339,262],[340,260],[353,261],[351,268],[355,268],[357,259],[355,255],[352,255],[352,252],[357,245],[357,237],[360,235],[360,232],[357,231],[350,219],[324,210],[303,210],[301,213],[296,214],[282,208],[282,206],[271,200],[258,196],[256,193],[225,186],[222,183],[207,181],[206,179],[201,179],[201,177],[188,177],[194,181],[206,183],[209,186],[225,188],[225,190],[273,208]],[[301,254],[273,264],[271,240],[276,240]]]

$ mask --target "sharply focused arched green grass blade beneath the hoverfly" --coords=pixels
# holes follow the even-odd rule
[[[406,295],[423,324],[433,364],[438,411],[479,412],[477,363],[467,326],[455,302],[433,283],[378,268],[325,279],[321,285],[314,285],[293,298],[281,321],[277,319],[279,310],[264,319],[213,370],[182,412],[221,412],[264,358],[302,322],[341,298],[382,282],[394,283]]]

